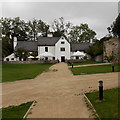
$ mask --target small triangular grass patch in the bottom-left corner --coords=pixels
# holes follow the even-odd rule
[[[23,103],[19,106],[10,106],[7,108],[2,108],[2,118],[5,120],[6,118],[12,120],[12,118],[17,118],[17,120],[22,120],[29,107],[33,102]]]

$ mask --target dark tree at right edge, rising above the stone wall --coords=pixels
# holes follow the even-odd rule
[[[113,24],[107,29],[111,36],[113,34],[114,37],[120,38],[120,13],[116,18],[116,20],[113,22]]]

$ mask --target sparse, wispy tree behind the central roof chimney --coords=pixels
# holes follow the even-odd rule
[[[65,22],[63,17],[60,17],[58,20],[55,19],[52,24],[53,36],[60,37],[61,35],[68,35],[71,27],[72,24],[70,22]]]

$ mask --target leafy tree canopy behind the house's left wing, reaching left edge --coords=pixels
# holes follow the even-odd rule
[[[21,40],[36,40],[38,33],[39,36],[46,36],[49,29],[42,20],[32,20],[25,22],[19,17],[16,18],[1,18],[2,35],[8,38],[16,36],[18,41]]]

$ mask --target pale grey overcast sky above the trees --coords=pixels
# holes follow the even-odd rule
[[[108,34],[109,27],[118,15],[118,2],[4,2],[3,17],[24,20],[41,19],[51,24],[64,17],[73,25],[87,23],[97,33],[97,38]]]

